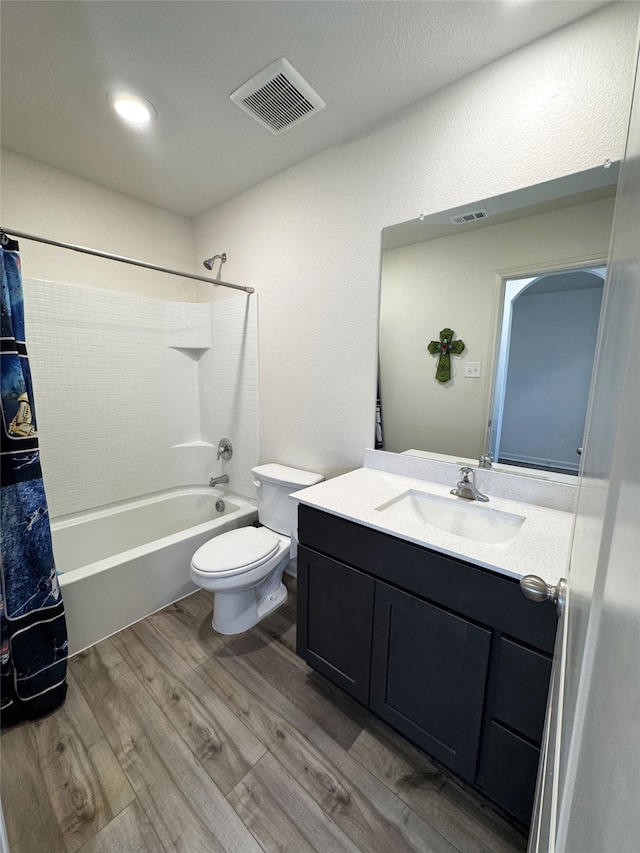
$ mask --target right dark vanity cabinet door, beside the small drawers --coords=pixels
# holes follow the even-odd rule
[[[370,706],[463,779],[475,779],[491,631],[376,587]]]

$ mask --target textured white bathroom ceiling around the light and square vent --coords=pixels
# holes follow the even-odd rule
[[[2,145],[193,217],[604,5],[2,0]],[[275,136],[229,95],[280,57],[327,106]],[[147,131],[113,89],[155,105]]]

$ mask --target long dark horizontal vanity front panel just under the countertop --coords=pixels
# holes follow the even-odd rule
[[[553,654],[555,606],[526,599],[514,578],[304,504],[298,536],[302,545]]]

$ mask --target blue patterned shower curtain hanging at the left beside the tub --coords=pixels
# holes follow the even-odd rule
[[[53,711],[67,691],[67,628],[40,470],[18,244],[2,236],[0,719]]]

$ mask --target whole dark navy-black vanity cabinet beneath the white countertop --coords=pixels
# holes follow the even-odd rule
[[[517,581],[300,505],[298,654],[520,823],[556,614]]]

